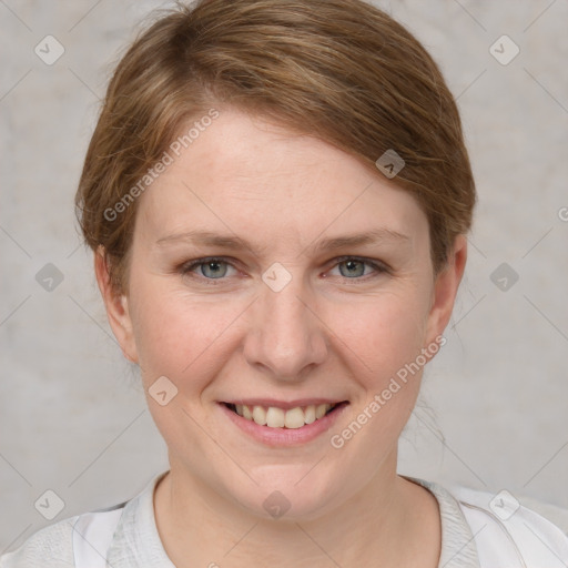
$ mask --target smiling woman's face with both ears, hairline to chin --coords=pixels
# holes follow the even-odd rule
[[[407,192],[235,110],[139,199],[128,294],[112,296],[100,258],[98,276],[172,475],[263,517],[281,491],[295,518],[392,479],[464,240],[435,278]]]

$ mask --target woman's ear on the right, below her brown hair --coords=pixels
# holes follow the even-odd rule
[[[452,317],[459,283],[467,260],[467,239],[458,235],[454,242],[447,266],[436,276],[428,314],[426,346],[444,333]]]

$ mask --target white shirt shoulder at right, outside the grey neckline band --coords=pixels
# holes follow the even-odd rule
[[[507,490],[490,494],[454,486],[448,493],[471,528],[481,567],[501,566],[513,559],[528,568],[568,565],[568,536],[534,510],[538,501],[531,501],[531,508],[526,507],[521,498]],[[546,506],[542,509],[552,510]],[[568,518],[568,511],[556,510],[557,518]]]

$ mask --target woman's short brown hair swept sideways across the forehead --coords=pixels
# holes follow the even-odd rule
[[[422,44],[363,0],[200,0],[143,31],[118,64],[75,195],[87,244],[128,290],[138,200],[124,199],[191,120],[232,106],[356,156],[394,150],[392,181],[428,217],[435,274],[471,224],[475,182],[459,113]]]

